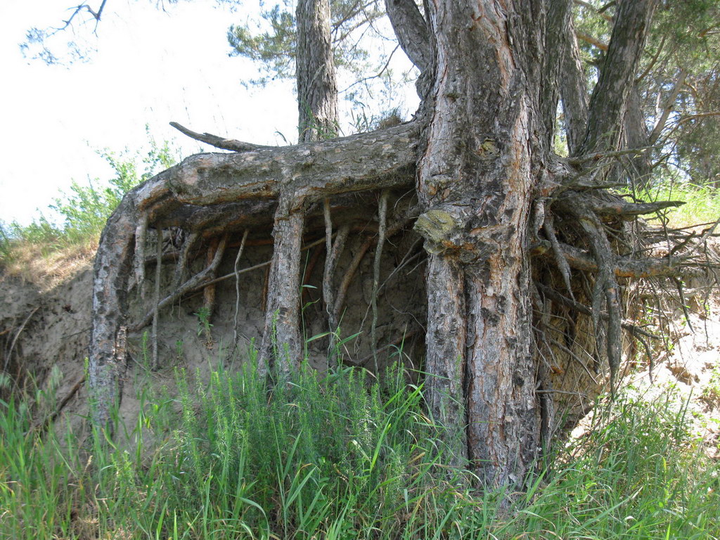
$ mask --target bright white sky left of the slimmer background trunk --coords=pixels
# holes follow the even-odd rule
[[[253,143],[281,145],[277,132],[297,138],[292,83],[248,91],[240,81],[256,76],[254,68],[228,58],[225,35],[245,22],[242,11],[215,0],[180,2],[167,13],[154,0],[109,0],[91,61],[60,67],[23,58],[25,32],[58,24],[71,5],[0,0],[0,220],[27,224],[36,209],[49,215],[48,204],[72,179],[107,179],[111,170],[94,150],[139,149],[146,124],[184,155],[201,145],[171,120]]]

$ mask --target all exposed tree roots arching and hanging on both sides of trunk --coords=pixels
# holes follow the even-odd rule
[[[385,240],[407,228],[420,213],[417,208],[409,207],[405,212],[396,210],[390,216],[387,215],[388,206],[398,197],[400,189],[407,192],[412,185],[416,159],[416,143],[413,142],[413,138],[417,137],[416,127],[406,125],[392,129],[396,131],[290,148],[261,148],[237,141],[228,143],[207,134],[202,135],[202,138],[194,137],[197,140],[204,138],[204,142],[212,141],[211,144],[225,145],[221,148],[237,143],[233,148],[250,150],[239,154],[193,156],[151,179],[127,197],[124,206],[110,222],[104,247],[99,254],[99,266],[96,266],[105,272],[105,282],[111,283],[107,291],[96,294],[104,298],[115,294],[114,300],[109,300],[115,306],[114,314],[107,318],[107,325],[102,315],[99,324],[96,323],[94,336],[99,336],[99,332],[107,338],[112,328],[122,329],[118,322],[126,316],[127,301],[124,293],[118,291],[125,290],[122,268],[130,264],[127,261],[132,261],[134,256],[134,281],[140,290],[148,281],[145,264],[156,264],[153,307],[139,320],[130,322],[131,331],[138,331],[150,322],[153,323],[153,366],[157,367],[161,361],[158,358],[156,338],[161,310],[201,289],[205,306],[212,308],[215,285],[230,278],[235,279],[234,350],[239,338],[241,276],[267,268],[264,285],[261,285],[258,276],[258,288],[263,289],[261,302],[264,305],[261,307],[265,314],[258,369],[261,374],[272,374],[275,381],[279,382],[294,369],[304,354],[300,324],[302,293],[305,291],[302,286],[309,284],[308,280],[314,274],[313,269],[320,257],[325,254],[321,284],[330,336],[330,366],[336,361],[333,356],[339,339],[336,332],[346,307],[348,289],[356,282],[361,264],[372,258],[372,263],[369,262],[372,268],[372,291],[368,307],[372,310],[369,354],[361,356],[359,361],[344,357],[342,361],[359,366],[372,361],[371,369],[377,372],[380,367],[378,353],[402,343],[402,340],[395,340],[378,348],[380,293],[391,280],[408,274],[411,262],[425,256],[424,252],[415,251],[416,243],[407,244],[407,252],[402,257],[396,254],[395,268],[384,282],[381,281],[380,262],[382,260],[383,264],[388,264],[382,256],[383,250],[388,249]],[[386,146],[378,146],[378,141],[384,141],[382,144]],[[386,149],[382,150],[384,154],[377,156],[366,153],[368,145]],[[348,159],[343,153],[364,157]],[[587,167],[582,170],[562,163],[550,174],[555,176],[546,181],[548,187],[542,192],[544,212],[537,218],[539,223],[535,224],[539,230],[533,253],[537,256],[532,259],[531,265],[538,297],[533,302],[536,312],[533,327],[535,354],[539,359],[534,383],[543,444],[557,431],[553,419],[562,405],[562,396],[577,397],[584,393],[568,390],[559,384],[558,377],[569,377],[569,381],[575,377],[577,384],[582,379],[594,387],[600,387],[604,376],[593,373],[592,361],[588,359],[594,356],[598,363],[607,359],[614,390],[623,343],[621,329],[642,343],[652,364],[653,355],[648,343],[649,340],[657,341],[657,338],[624,318],[621,306],[623,279],[689,276],[701,271],[695,262],[688,260],[688,253],[702,235],[684,234],[682,231],[666,235],[665,240],[672,245],[664,257],[652,256],[647,243],[643,245],[634,239],[625,238],[624,222],[679,203],[629,203],[621,197],[604,194],[598,188],[596,179],[602,177],[603,170],[611,163],[611,157],[608,156],[575,163],[575,166],[586,164]],[[592,189],[588,189],[588,186],[592,186]],[[369,196],[356,194],[361,192],[369,192],[372,197],[379,195],[377,217],[372,216],[368,207]],[[274,219],[271,219],[272,215]],[[175,227],[181,227],[184,232],[184,241],[179,249],[171,249],[166,253],[157,251],[155,258],[148,257],[145,253],[148,228],[158,230],[158,246],[161,248],[162,230]],[[272,238],[267,234],[270,230]],[[235,243],[230,244],[228,238],[239,235],[240,231],[242,237],[239,242],[236,239]],[[363,236],[355,240],[355,232]],[[463,231],[451,230],[437,245],[441,250],[449,249],[449,246],[454,248],[464,241],[463,234]],[[309,237],[305,245],[304,235]],[[318,238],[318,235],[321,237]],[[351,237],[354,243],[350,243]],[[321,247],[323,244],[325,249]],[[207,253],[199,247],[208,245],[210,248]],[[240,268],[240,258],[249,247],[269,245],[273,246],[269,261]],[[337,276],[338,261],[343,252],[349,251],[348,245],[352,246],[352,256],[348,256],[349,261],[343,263],[342,275]],[[230,246],[238,246],[233,271],[217,276],[224,253]],[[369,256],[373,246],[374,253]],[[317,249],[310,256],[304,270],[305,279],[302,279],[301,254],[310,248]],[[198,264],[197,259],[201,256],[206,257],[204,269],[194,270],[192,276],[187,277],[189,269]],[[176,258],[176,264],[170,290],[162,297],[161,292],[166,289],[162,287],[163,261],[167,266],[167,261],[173,258]],[[446,264],[448,260],[443,262],[436,258],[433,262],[431,258],[430,264]],[[459,264],[459,260],[456,264]],[[428,284],[428,287],[447,289],[444,299],[446,304],[442,308],[447,312],[465,311],[462,302],[466,292],[481,294],[472,289],[476,285],[466,291],[465,288],[469,287],[467,278],[459,272],[456,277],[453,283]],[[588,286],[583,287],[583,282]],[[120,286],[117,285],[119,283]],[[582,320],[577,321],[578,315],[585,321],[593,322],[590,332],[588,325],[583,326]],[[441,331],[435,323],[433,320],[428,321],[428,333]],[[420,331],[415,326],[415,330],[406,334],[405,338],[415,336]],[[91,370],[91,373],[95,373],[91,375],[91,385],[99,388],[101,398],[103,388],[96,382],[97,374],[109,374],[109,380],[114,381],[108,385],[103,399],[110,395],[110,386],[114,385],[114,391],[117,391],[121,384],[120,373],[125,365],[122,332],[117,330],[112,335],[114,345],[105,348],[107,354],[104,358],[112,357],[112,362],[102,364],[94,360],[95,367]],[[467,328],[456,328],[456,337],[458,343],[465,343],[468,338]],[[456,345],[453,342],[453,347]],[[593,349],[595,354],[588,353]],[[572,369],[567,367],[568,364],[576,365],[580,374],[574,372],[571,376]],[[432,365],[426,365],[423,369],[436,374],[436,377],[426,381],[428,395],[432,396],[428,400],[428,409],[438,420],[453,418],[460,410],[458,400],[464,392],[455,383],[466,374],[447,372],[443,375],[438,366]],[[459,369],[466,368],[461,366]],[[442,395],[445,398],[441,399]],[[101,411],[95,416],[99,423],[102,423],[103,414]],[[459,451],[462,454],[467,449]],[[462,461],[462,458],[459,459]]]

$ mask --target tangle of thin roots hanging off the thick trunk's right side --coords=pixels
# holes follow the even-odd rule
[[[697,265],[690,263],[687,256],[688,238],[670,242],[666,233],[670,253],[665,257],[653,257],[649,253],[652,246],[646,248],[652,231],[640,225],[639,229],[635,229],[639,238],[634,238],[629,235],[628,226],[624,225],[624,222],[636,220],[638,216],[678,207],[683,202],[628,202],[618,194],[606,191],[609,185],[599,185],[598,179],[606,177],[604,171],[615,166],[614,160],[632,151],[620,150],[567,160],[571,167],[561,172],[557,184],[548,191],[551,197],[546,199],[549,204],[542,223],[545,240],[540,240],[533,250],[545,261],[538,269],[552,267],[551,274],[554,275],[545,282],[536,280],[536,287],[546,300],[557,305],[555,318],[548,320],[541,317],[536,302],[538,325],[543,332],[564,336],[567,330],[575,328],[576,321],[573,315],[563,314],[562,310],[572,310],[590,318],[593,344],[585,343],[583,355],[593,357],[595,373],[599,372],[600,359],[607,357],[612,395],[616,390],[621,363],[622,330],[642,343],[651,369],[654,356],[648,340],[658,339],[624,320],[622,289],[618,279],[676,279],[680,275],[697,273]],[[616,179],[611,181],[618,184]],[[646,242],[644,245],[641,245],[642,240]],[[676,251],[685,251],[685,256],[675,256]],[[539,275],[544,275],[543,270],[539,271]],[[545,278],[548,277],[545,275]],[[566,293],[560,294],[561,287],[554,285],[559,283]],[[680,295],[682,297],[681,292]],[[552,310],[552,304],[543,302],[543,309]],[[572,343],[580,336],[575,330],[572,334],[573,338],[566,340],[564,345],[552,339],[549,341],[564,354],[580,361],[572,351]],[[538,346],[540,349],[541,344]],[[585,368],[585,364],[582,365]]]

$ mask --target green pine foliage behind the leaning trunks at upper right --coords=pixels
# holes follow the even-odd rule
[[[597,43],[610,40],[608,17],[614,15],[615,6],[600,0],[577,4],[575,26],[591,89],[604,55]],[[608,9],[598,13],[603,6]],[[636,80],[637,105],[646,122],[639,130],[645,128],[649,135],[665,108],[670,109],[657,140],[648,141],[658,145],[650,161],[680,168],[694,184],[720,181],[720,166],[714,159],[720,153],[719,19],[716,0],[660,2]],[[678,85],[683,70],[685,79]],[[669,101],[675,90],[677,96]]]

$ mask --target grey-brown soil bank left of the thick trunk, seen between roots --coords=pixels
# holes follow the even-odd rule
[[[383,256],[382,276],[387,285],[379,294],[377,340],[382,348],[379,366],[402,361],[419,369],[418,359],[424,355],[424,319],[426,312],[422,247],[415,235],[401,235],[393,239],[395,245]],[[363,248],[363,238],[348,239],[346,253],[338,261],[338,275],[343,276],[353,264],[354,256]],[[364,251],[363,251],[364,253]],[[409,254],[409,255],[408,255]],[[410,266],[394,272],[405,258]],[[174,385],[174,370],[184,368],[191,374],[207,377],[219,363],[238,366],[257,346],[264,325],[264,296],[266,294],[266,266],[271,257],[269,246],[246,250],[239,261],[240,269],[258,266],[242,274],[237,283],[233,276],[235,251],[223,258],[218,271],[228,276],[215,285],[210,319],[199,316],[204,305],[203,291],[190,294],[161,311],[158,323],[159,365],[152,366],[152,338],[150,325],[128,336],[127,354],[130,358],[120,408],[120,420],[131,425],[136,420],[140,396],[148,385]],[[418,258],[420,263],[418,264]],[[414,259],[414,260],[413,260]],[[202,269],[204,257],[189,263],[189,271]],[[327,367],[328,338],[326,315],[322,300],[324,246],[310,249],[305,257],[305,278],[302,294],[302,320],[307,339],[307,357],[318,369]],[[370,354],[369,310],[372,296],[372,258],[364,257],[353,271],[354,279],[346,295],[346,309],[341,319],[341,336],[355,338],[342,344],[343,356],[351,364],[372,364]],[[25,274],[37,274],[27,271]],[[62,279],[33,275],[22,278],[19,272],[0,269],[0,368],[12,379],[12,388],[50,384],[54,370],[53,391],[58,406],[73,420],[81,422],[87,414],[87,391],[84,385],[85,359],[88,354],[91,327],[92,258],[85,256],[81,264],[75,261],[72,271]],[[148,276],[154,278],[153,261],[148,262]],[[174,265],[163,264],[161,284],[171,287]],[[138,287],[130,291],[131,326],[153,309],[153,279],[145,297]],[[238,306],[238,340],[235,343],[235,308]],[[207,324],[206,324],[207,323]],[[398,347],[402,341],[402,351]],[[59,382],[58,382],[59,380]],[[9,391],[12,391],[9,390]],[[1,390],[8,392],[8,390]],[[1,396],[0,396],[1,397]],[[69,398],[69,399],[68,399]],[[69,414],[68,414],[69,413]]]

